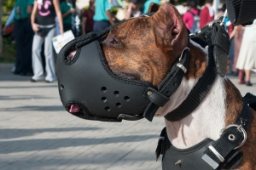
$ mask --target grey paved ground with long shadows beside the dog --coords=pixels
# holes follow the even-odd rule
[[[1,170],[161,169],[154,150],[163,118],[153,122],[85,121],[64,111],[57,82],[29,82],[0,64]],[[230,77],[236,84],[236,77]],[[253,87],[237,85],[241,94]]]

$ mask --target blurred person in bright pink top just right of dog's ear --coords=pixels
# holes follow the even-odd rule
[[[200,10],[197,8],[197,1],[189,1],[189,10],[183,14],[183,21],[191,33],[195,33],[199,29],[199,14]]]

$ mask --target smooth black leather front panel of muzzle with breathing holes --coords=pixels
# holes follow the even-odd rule
[[[120,122],[143,118],[154,86],[117,77],[108,68],[98,41],[78,48],[73,59],[63,49],[57,59],[61,102],[66,110],[84,119]]]

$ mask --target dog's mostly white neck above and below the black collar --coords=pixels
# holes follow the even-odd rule
[[[195,42],[191,42],[190,47],[190,52],[195,48],[197,48],[197,50],[200,49],[201,52],[204,51],[204,49],[197,46]],[[207,61],[207,54],[206,52],[204,53],[205,61]],[[193,55],[196,54],[190,53],[190,61],[194,59],[193,62],[196,63],[195,58],[198,56]],[[201,60],[201,64],[199,65],[202,65],[202,62]],[[193,67],[196,67],[196,64],[193,65]],[[195,71],[195,69],[190,68],[190,71],[192,70]],[[193,75],[196,75],[196,71]],[[195,78],[184,77],[180,87],[177,88],[175,94],[170,98],[170,102],[168,102],[165,107],[160,108],[156,116],[165,116],[166,113],[173,111],[181,105],[183,100],[189,95],[189,92],[195,87],[200,77],[201,76]],[[220,130],[225,126],[224,99],[226,92],[224,81],[225,79],[223,77],[217,76],[207,97],[189,116],[177,122],[169,122],[166,120],[168,138],[175,147],[185,149],[207,138],[218,139]]]

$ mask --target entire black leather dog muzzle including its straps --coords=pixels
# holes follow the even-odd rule
[[[189,63],[189,48],[184,48],[158,88],[149,82],[118,77],[108,67],[101,47],[102,37],[114,26],[78,37],[61,49],[56,64],[61,102],[67,111],[79,105],[79,111],[72,114],[88,120],[121,122],[145,117],[152,121],[158,108],[166,105],[179,87]],[[73,50],[76,54],[70,59]]]

